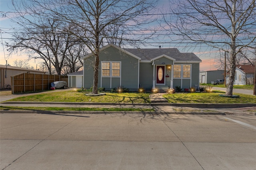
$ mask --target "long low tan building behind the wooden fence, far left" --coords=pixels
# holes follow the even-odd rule
[[[28,68],[20,68],[14,66],[7,66],[0,64],[0,88],[6,88],[6,85],[11,85],[11,76],[15,76],[20,73],[31,74],[45,74],[44,71],[32,70]]]

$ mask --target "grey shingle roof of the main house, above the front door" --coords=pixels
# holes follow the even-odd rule
[[[180,53],[176,48],[170,49],[124,49],[138,57],[141,60],[150,61],[160,55],[167,55],[176,59],[176,61],[201,61],[194,53]]]

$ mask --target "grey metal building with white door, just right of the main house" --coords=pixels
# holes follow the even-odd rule
[[[211,83],[213,81],[224,79],[224,70],[200,71],[200,83]]]

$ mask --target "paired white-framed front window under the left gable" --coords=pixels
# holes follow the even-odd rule
[[[120,77],[120,62],[102,62],[102,76]]]

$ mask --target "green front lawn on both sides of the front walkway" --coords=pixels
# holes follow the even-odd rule
[[[165,94],[170,103],[256,103],[256,96],[236,94],[240,98],[219,96],[221,91],[212,93]],[[103,96],[86,96],[84,92],[63,91],[35,94],[12,99],[18,102],[111,102],[111,103],[150,103],[150,93],[106,93]]]

